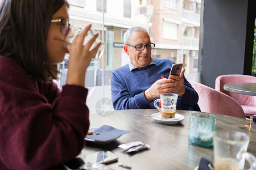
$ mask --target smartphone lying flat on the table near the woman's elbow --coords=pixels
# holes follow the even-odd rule
[[[117,161],[117,156],[115,156],[110,151],[98,151],[93,154],[86,155],[85,163],[101,163],[101,164],[108,164],[111,162]]]

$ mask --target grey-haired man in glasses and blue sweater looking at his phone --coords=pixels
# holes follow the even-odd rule
[[[155,44],[151,43],[146,29],[133,27],[123,36],[125,53],[130,62],[111,75],[112,102],[115,110],[155,108],[154,100],[162,93],[176,93],[177,109],[188,110],[197,105],[197,92],[183,76],[169,76],[170,59],[151,57]]]

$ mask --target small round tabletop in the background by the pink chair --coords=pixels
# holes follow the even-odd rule
[[[256,96],[256,83],[228,83],[223,88],[237,94]]]

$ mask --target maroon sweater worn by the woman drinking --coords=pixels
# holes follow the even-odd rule
[[[36,82],[0,55],[0,169],[46,169],[75,158],[89,128],[87,94]]]

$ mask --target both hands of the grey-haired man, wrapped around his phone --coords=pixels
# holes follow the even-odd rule
[[[155,97],[159,97],[163,93],[175,92],[180,97],[185,93],[184,75],[185,69],[181,70],[180,76],[171,75],[169,79],[159,79],[150,88],[144,91],[144,96],[148,101],[152,101]]]

